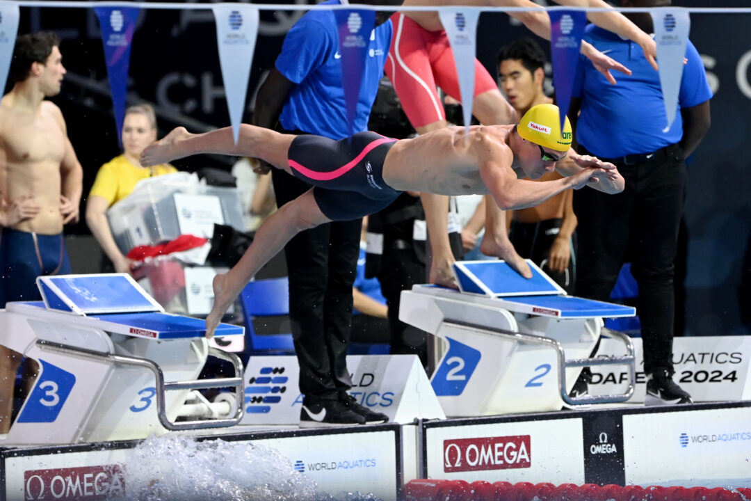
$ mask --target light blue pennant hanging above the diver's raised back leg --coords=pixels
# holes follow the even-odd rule
[[[219,65],[235,144],[240,139],[250,65],[258,35],[258,8],[246,4],[213,4]]]

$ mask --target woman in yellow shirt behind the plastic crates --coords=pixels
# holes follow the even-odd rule
[[[86,224],[118,273],[130,273],[131,260],[118,249],[105,212],[116,201],[130,195],[138,181],[177,172],[170,164],[151,168],[141,166],[138,161],[141,152],[155,140],[154,109],[148,104],[128,107],[122,123],[122,147],[125,151],[101,166],[86,201]]]

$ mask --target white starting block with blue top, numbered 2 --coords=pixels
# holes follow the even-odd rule
[[[634,391],[634,348],[628,336],[603,328],[602,318],[634,308],[566,295],[532,261],[525,279],[504,261],[460,261],[460,291],[415,285],[402,291],[399,318],[444,341],[431,378],[449,416],[557,410],[564,405],[616,403]],[[624,354],[590,358],[600,335],[623,343]],[[623,365],[623,394],[569,397],[583,367]]]

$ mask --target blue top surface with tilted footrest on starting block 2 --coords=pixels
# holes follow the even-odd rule
[[[525,279],[505,261],[454,263],[460,291],[494,297],[513,312],[553,318],[615,318],[636,315],[632,306],[566,295],[566,291],[536,264],[526,260],[532,278]]]

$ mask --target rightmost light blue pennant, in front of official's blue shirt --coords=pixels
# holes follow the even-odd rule
[[[680,79],[683,77],[683,58],[686,57],[686,42],[689,39],[691,19],[689,12],[680,8],[650,10],[657,43],[657,64],[662,99],[668,123],[663,132],[670,130],[678,109]]]

